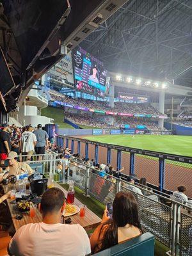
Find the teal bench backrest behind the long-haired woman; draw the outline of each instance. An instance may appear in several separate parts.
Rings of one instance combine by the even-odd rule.
[[[154,236],[145,233],[125,243],[117,244],[109,249],[94,254],[95,256],[154,256]]]

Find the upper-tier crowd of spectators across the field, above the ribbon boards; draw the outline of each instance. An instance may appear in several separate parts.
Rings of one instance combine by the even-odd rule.
[[[130,114],[148,114],[148,115],[161,115],[159,111],[153,108],[150,104],[132,104],[126,102],[115,102],[114,108],[108,106],[108,102],[99,100],[90,100],[83,98],[72,98],[63,95],[56,91],[49,91],[52,100],[67,102],[73,106],[81,106],[83,108],[98,109],[102,111],[113,111],[117,113],[130,113]]]

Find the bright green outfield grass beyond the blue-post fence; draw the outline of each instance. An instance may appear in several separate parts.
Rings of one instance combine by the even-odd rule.
[[[100,135],[86,136],[87,140],[99,141],[131,148],[139,148],[192,157],[192,136],[175,135]]]

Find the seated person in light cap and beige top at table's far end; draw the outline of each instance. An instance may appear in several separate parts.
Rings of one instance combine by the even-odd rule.
[[[20,173],[28,172],[28,175],[33,173],[33,170],[29,166],[29,164],[21,163],[17,161],[17,153],[14,151],[10,151],[7,159],[9,160],[9,166],[6,170],[10,175],[19,175]]]

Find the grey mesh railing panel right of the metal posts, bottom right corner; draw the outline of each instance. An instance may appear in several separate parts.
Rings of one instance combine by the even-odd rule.
[[[192,255],[192,217],[184,213],[180,218],[179,245],[180,256]]]

